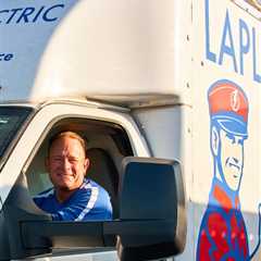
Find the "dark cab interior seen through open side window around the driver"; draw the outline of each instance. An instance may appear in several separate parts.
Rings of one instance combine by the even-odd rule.
[[[45,167],[49,139],[57,133],[72,130],[87,142],[87,157],[90,166],[86,176],[101,185],[110,195],[113,217],[119,215],[119,173],[124,157],[133,151],[124,129],[112,123],[86,119],[63,119],[46,134],[44,141],[30,157],[25,175],[32,196],[52,187]]]

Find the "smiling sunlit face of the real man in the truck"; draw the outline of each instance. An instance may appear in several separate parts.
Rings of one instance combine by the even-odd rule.
[[[84,181],[89,160],[85,158],[79,140],[61,137],[52,144],[47,169],[53,186],[58,189],[73,190]]]

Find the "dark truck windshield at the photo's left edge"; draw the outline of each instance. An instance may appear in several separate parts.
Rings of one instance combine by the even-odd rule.
[[[0,161],[32,112],[28,107],[0,107]]]

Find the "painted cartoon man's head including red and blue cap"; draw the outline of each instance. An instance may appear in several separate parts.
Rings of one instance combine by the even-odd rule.
[[[214,175],[229,189],[239,190],[244,169],[244,141],[248,137],[248,99],[229,80],[214,83],[208,91]]]

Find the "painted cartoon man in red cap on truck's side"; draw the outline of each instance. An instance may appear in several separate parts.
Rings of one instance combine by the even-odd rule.
[[[250,260],[239,201],[248,99],[235,83],[219,80],[210,87],[208,101],[214,176],[200,225],[197,260]]]

